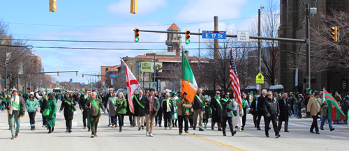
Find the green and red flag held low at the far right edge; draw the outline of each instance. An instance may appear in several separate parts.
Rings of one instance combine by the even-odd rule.
[[[325,101],[327,102],[329,120],[344,120],[344,118],[348,119],[348,117],[344,115],[341,107],[338,105],[334,97],[332,97],[332,95],[330,95],[325,88],[323,98],[325,98]]]

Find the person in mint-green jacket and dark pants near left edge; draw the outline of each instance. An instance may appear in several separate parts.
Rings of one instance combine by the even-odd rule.
[[[39,111],[39,102],[34,97],[34,92],[31,92],[25,107],[28,111],[29,120],[30,120],[30,130],[35,130],[35,116],[36,112]]]

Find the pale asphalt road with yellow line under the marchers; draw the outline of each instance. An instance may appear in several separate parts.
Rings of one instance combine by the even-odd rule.
[[[57,104],[57,109],[61,102]],[[57,111],[58,112],[58,111]],[[189,129],[189,134],[178,134],[178,128],[172,130],[154,127],[154,137],[145,136],[145,130],[130,127],[128,116],[125,116],[123,132],[119,127],[107,127],[108,116],[102,115],[98,125],[98,136],[90,138],[91,133],[82,129],[82,113],[75,112],[73,132],[66,133],[64,115],[57,113],[56,127],[52,134],[42,126],[41,114],[36,114],[36,130],[31,131],[29,116],[21,118],[20,134],[10,140],[7,111],[0,113],[0,147],[1,150],[346,150],[349,147],[349,126],[334,125],[336,129],[320,130],[320,135],[309,133],[311,119],[290,118],[289,133],[281,129],[281,137],[274,138],[273,129],[269,138],[265,137],[264,122],[261,131],[254,128],[251,114],[247,116],[243,132],[235,136],[223,136],[222,132],[205,129],[204,132]],[[209,120],[210,121],[210,120]],[[320,127],[320,122],[318,122]]]

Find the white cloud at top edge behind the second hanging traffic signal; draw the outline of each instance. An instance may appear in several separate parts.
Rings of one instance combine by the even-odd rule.
[[[157,8],[162,8],[167,5],[165,0],[139,0],[138,1],[138,15],[146,15],[153,13]],[[120,0],[118,3],[113,3],[108,6],[107,10],[110,13],[118,15],[131,15],[131,1],[130,0]]]

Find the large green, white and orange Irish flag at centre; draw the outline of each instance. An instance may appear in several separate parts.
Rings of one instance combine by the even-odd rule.
[[[181,95],[183,96],[183,93],[186,93],[186,99],[193,103],[196,91],[198,90],[198,84],[196,84],[193,70],[191,70],[191,65],[189,65],[184,51],[181,54],[181,58]]]

